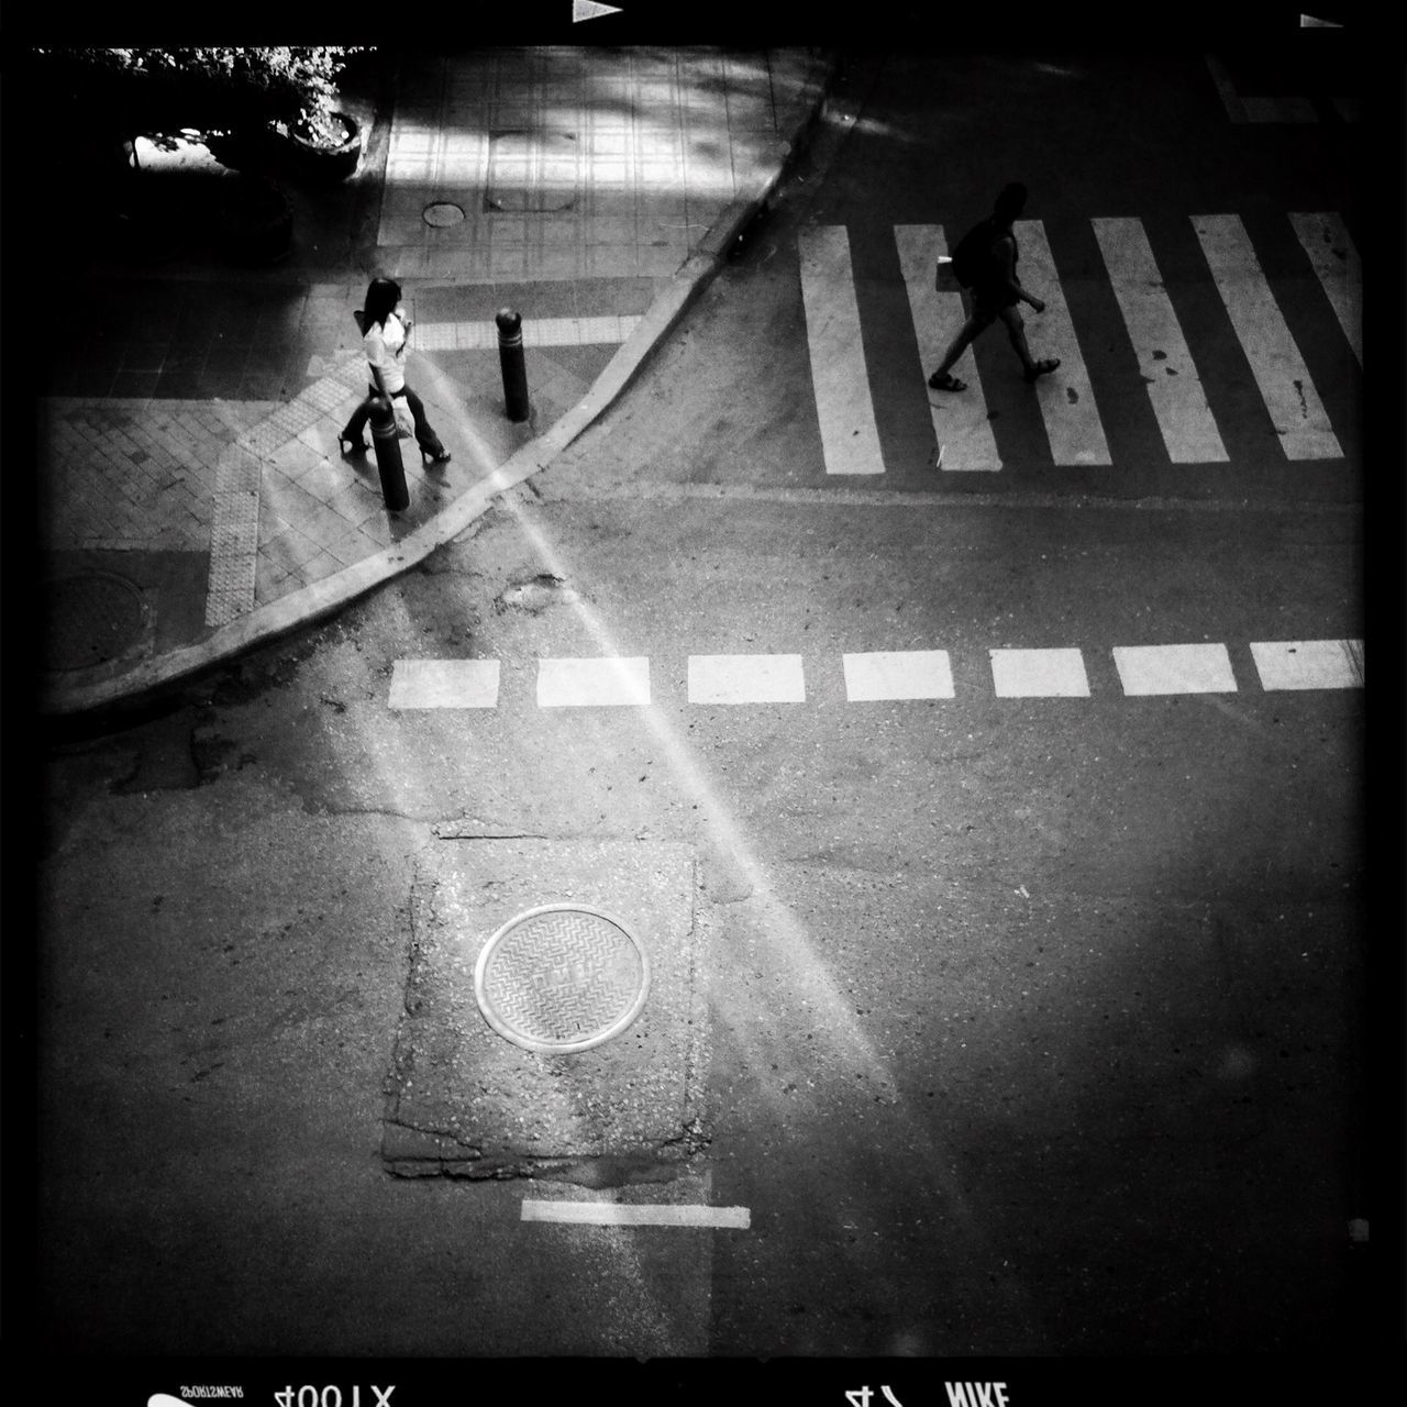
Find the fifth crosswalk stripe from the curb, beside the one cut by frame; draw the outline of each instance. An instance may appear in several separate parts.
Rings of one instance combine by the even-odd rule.
[[[1339,459],[1344,452],[1240,217],[1193,215],[1192,225],[1286,459]]]

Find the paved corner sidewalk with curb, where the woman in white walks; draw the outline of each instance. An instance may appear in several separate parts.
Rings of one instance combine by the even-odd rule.
[[[547,464],[720,267],[829,72],[809,51],[416,56],[353,177],[380,183],[370,269],[342,232],[319,259],[295,229],[294,257],[257,273],[100,270],[41,402],[45,712],[138,699],[335,612]],[[336,442],[366,386],[352,311],[371,272],[405,288],[408,381],[453,454],[422,467],[401,442],[400,514],[374,459]]]

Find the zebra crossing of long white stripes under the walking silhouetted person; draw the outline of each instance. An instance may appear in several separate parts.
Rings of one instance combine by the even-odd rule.
[[[1216,290],[1231,335],[1244,356],[1286,461],[1342,460],[1344,443],[1282,307],[1282,294],[1256,253],[1245,222],[1237,214],[1188,217],[1200,253],[1203,284]],[[1362,367],[1362,265],[1352,236],[1338,212],[1290,212],[1286,234],[1313,270],[1303,280],[1309,295],[1324,300],[1344,339]],[[1224,346],[1202,345],[1189,335],[1179,301],[1186,293],[1169,279],[1172,255],[1137,217],[1089,221],[1102,260],[1099,277],[1107,283],[1137,357],[1137,373],[1172,464],[1225,464],[1225,426],[1207,397],[1206,367]],[[919,352],[913,384],[923,386],[965,317],[962,294],[936,280],[937,259],[961,231],[941,224],[893,225],[898,265],[908,295],[913,343]],[[1031,340],[1041,356],[1059,357],[1059,370],[1034,386],[1057,466],[1110,466],[1103,397],[1116,402],[1127,386],[1097,384],[1085,348],[1106,328],[1082,324],[1067,300],[1061,267],[1044,224],[1016,222],[1021,281],[1044,301],[1045,311],[1030,319]],[[884,474],[881,415],[872,398],[871,369],[861,339],[858,286],[854,277],[850,231],[844,225],[810,225],[798,234],[802,308],[815,391],[825,470],[833,476]],[[1175,260],[1173,260],[1175,262]],[[1081,274],[1083,277],[1083,274]],[[1183,283],[1186,280],[1183,279]],[[1282,281],[1283,288],[1283,281]],[[1317,290],[1317,293],[1314,291]],[[1085,315],[1088,319],[1088,314]],[[929,393],[934,449],[930,463],[944,473],[999,471],[1003,459],[993,429],[992,397],[982,386],[979,359],[968,348],[954,373],[968,383],[960,394]],[[1107,371],[1106,371],[1107,377]]]

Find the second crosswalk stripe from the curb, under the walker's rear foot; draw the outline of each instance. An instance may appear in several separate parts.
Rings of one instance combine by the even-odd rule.
[[[934,286],[938,255],[948,252],[941,225],[895,225],[899,248],[899,267],[909,290],[909,310],[913,315],[913,335],[919,343],[919,369],[927,381],[943,359],[948,342],[967,319],[962,294],[938,293]],[[992,422],[986,418],[986,397],[976,374],[976,357],[968,348],[953,366],[953,374],[967,381],[965,391],[929,391],[929,414],[933,416],[934,445],[943,446],[944,471],[998,470]]]

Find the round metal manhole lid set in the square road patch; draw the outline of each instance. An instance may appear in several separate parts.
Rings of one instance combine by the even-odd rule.
[[[650,962],[609,913],[549,903],[505,923],[474,967],[474,996],[499,1036],[530,1051],[584,1051],[640,1014]]]

